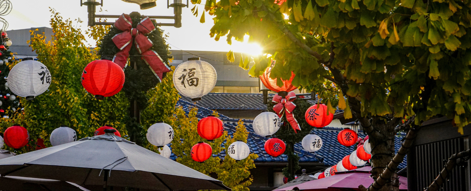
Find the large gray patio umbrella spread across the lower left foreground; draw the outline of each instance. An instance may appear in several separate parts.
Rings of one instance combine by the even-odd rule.
[[[0,176],[161,191],[230,190],[221,181],[114,135],[86,137],[0,160]]]

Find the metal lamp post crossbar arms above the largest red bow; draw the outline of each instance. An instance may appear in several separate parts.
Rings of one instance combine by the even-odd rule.
[[[87,6],[88,8],[88,25],[95,26],[95,25],[113,25],[114,22],[96,22],[95,18],[119,18],[120,15],[95,15],[97,6],[103,6],[103,0],[97,2],[97,0],[80,0],[80,6]],[[174,23],[157,23],[157,26],[174,26],[177,28],[181,27],[181,13],[183,7],[188,7],[188,0],[187,4],[183,4],[182,0],[173,0],[172,4],[169,4],[169,0],[167,0],[167,8],[173,7],[173,14],[174,16],[148,16],[151,19],[173,19]]]

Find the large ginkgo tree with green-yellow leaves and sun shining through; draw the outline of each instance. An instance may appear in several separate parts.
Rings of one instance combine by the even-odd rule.
[[[278,84],[294,72],[293,85],[359,119],[373,147],[370,191],[392,190],[390,177],[423,121],[447,116],[460,133],[470,123],[469,0],[199,1],[214,16],[215,40],[249,35],[263,47],[267,56],[254,57],[250,75],[276,60]],[[407,136],[396,154],[399,130]]]

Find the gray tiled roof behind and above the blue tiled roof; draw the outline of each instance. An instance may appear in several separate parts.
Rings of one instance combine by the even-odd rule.
[[[273,96],[273,95],[269,95]],[[181,100],[192,102],[191,98],[181,96]],[[309,100],[314,104],[314,101]],[[193,103],[193,102],[192,102]],[[262,94],[209,93],[203,96],[197,105],[210,110],[266,110]]]

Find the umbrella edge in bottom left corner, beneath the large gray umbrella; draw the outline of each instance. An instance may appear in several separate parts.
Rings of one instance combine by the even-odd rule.
[[[89,191],[77,184],[59,180],[25,178],[18,176],[0,177],[1,191]]]

